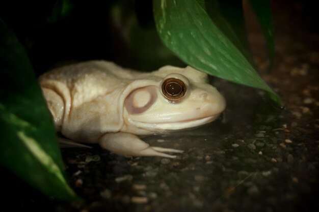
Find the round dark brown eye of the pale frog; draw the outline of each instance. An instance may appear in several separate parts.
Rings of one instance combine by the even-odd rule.
[[[162,84],[162,92],[166,99],[175,102],[185,95],[186,86],[180,79],[168,78]]]

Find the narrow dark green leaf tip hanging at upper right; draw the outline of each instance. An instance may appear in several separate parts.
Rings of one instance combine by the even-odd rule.
[[[258,19],[261,32],[266,40],[269,55],[269,70],[274,66],[275,39],[274,25],[269,0],[249,0],[250,6]]]

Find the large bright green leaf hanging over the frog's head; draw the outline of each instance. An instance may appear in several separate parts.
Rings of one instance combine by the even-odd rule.
[[[196,0],[153,0],[153,11],[159,37],[185,63],[210,75],[266,90],[281,105],[249,59]]]

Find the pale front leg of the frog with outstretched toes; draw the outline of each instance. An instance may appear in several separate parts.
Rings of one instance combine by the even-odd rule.
[[[166,153],[182,153],[182,150],[150,146],[130,133],[107,133],[99,139],[101,147],[122,156],[159,156],[176,158]]]

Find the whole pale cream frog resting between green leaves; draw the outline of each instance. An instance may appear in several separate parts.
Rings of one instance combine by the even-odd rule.
[[[161,156],[181,150],[149,146],[138,136],[193,128],[215,120],[224,97],[191,67],[150,73],[90,61],[39,78],[56,130],[76,142],[99,143],[124,156]]]

